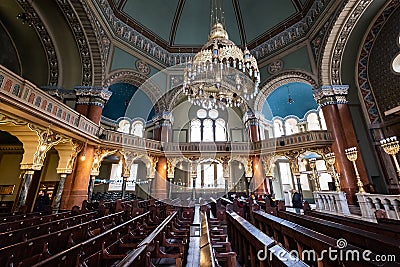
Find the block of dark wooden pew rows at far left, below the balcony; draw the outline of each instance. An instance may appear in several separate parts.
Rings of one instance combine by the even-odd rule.
[[[147,212],[150,201],[146,202],[142,203],[143,208],[140,211],[149,216],[146,222],[151,222],[152,218],[157,216],[150,216],[150,212]],[[92,210],[93,207],[83,203],[82,209],[74,207],[72,211],[58,214],[43,216],[39,216],[38,213],[26,214],[24,217],[19,217],[21,220],[9,220],[8,217],[4,217],[0,225],[9,223],[0,232],[0,266],[33,266],[35,264],[40,266],[44,260],[76,245],[92,238],[107,236],[105,233],[112,231],[111,229],[117,229],[113,233],[119,236],[118,229],[122,231],[126,222],[133,222],[132,219],[138,220],[137,214],[132,215],[135,207],[139,207],[139,204],[127,202],[120,205],[118,212],[110,213],[111,210],[118,209],[116,203],[106,205],[97,203],[97,210]],[[156,207],[153,208],[155,209]],[[158,208],[158,210],[163,209]],[[92,246],[89,247],[92,248]],[[90,254],[85,250],[83,253]],[[80,262],[76,264],[81,264],[83,259],[86,258],[79,257]]]

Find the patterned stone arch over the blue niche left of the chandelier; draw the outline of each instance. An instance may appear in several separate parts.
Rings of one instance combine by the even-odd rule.
[[[129,83],[140,88],[150,98],[156,113],[166,110],[166,104],[162,97],[164,93],[156,84],[148,80],[146,75],[132,70],[118,70],[111,73],[104,81],[107,88],[116,83]]]

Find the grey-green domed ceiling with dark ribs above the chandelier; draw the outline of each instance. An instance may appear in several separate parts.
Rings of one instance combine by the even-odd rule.
[[[170,52],[193,52],[210,30],[209,0],[108,0],[123,22]],[[299,22],[310,0],[222,0],[225,27],[237,45],[250,49]]]

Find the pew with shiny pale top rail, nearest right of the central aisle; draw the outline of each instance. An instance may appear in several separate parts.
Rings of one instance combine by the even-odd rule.
[[[234,211],[227,210],[228,233],[238,260],[246,266],[308,266],[289,255],[275,240],[257,229]],[[250,255],[250,257],[248,257]]]

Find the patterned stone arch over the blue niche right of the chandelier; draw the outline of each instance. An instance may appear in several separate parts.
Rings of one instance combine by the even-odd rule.
[[[283,72],[279,75],[273,76],[272,78],[266,80],[260,86],[260,92],[256,96],[254,101],[255,111],[261,112],[267,97],[278,87],[292,82],[302,82],[311,85],[316,88],[317,82],[312,77],[311,74],[300,72],[300,71],[290,71]]]

